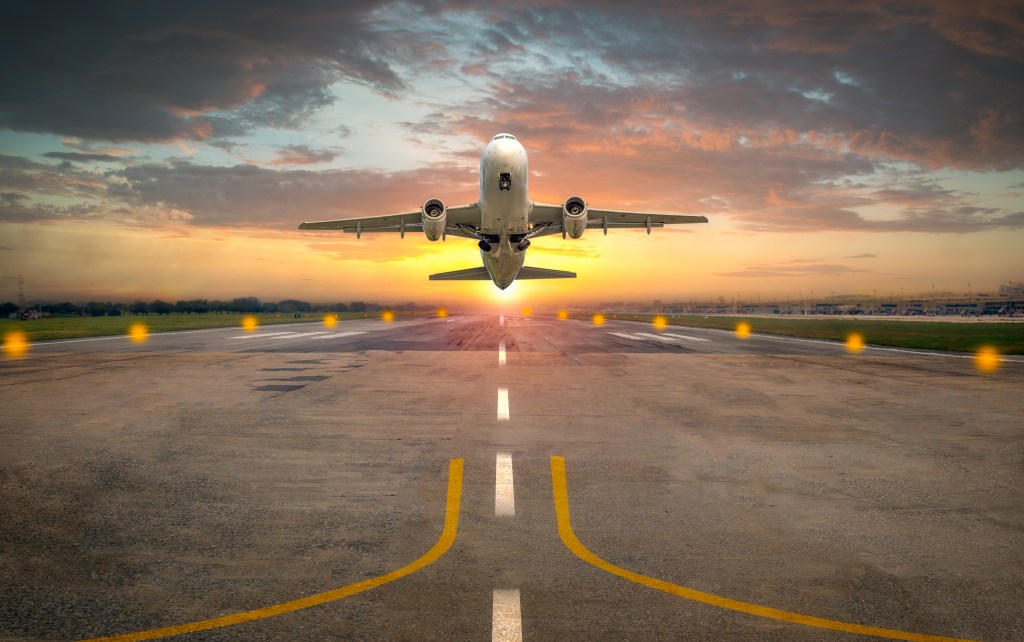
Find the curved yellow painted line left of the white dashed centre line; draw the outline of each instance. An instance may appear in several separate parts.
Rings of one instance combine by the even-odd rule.
[[[424,553],[422,557],[402,566],[401,568],[398,568],[397,570],[392,570],[391,572],[378,577],[364,580],[361,582],[356,582],[355,584],[350,584],[331,591],[326,591],[324,593],[317,593],[316,595],[310,595],[298,600],[282,602],[281,604],[264,606],[262,608],[249,611],[242,611],[241,613],[232,613],[230,615],[222,615],[220,617],[213,617],[211,619],[203,619],[201,622],[193,622],[174,627],[165,627],[163,629],[139,631],[136,633],[127,633],[105,638],[91,638],[89,640],[83,640],[82,642],[134,642],[135,640],[153,640],[155,638],[167,638],[185,633],[195,633],[197,631],[219,629],[222,627],[242,624],[244,622],[273,617],[274,615],[290,613],[303,608],[309,608],[310,606],[318,606],[327,602],[333,602],[342,598],[351,597],[357,593],[362,593],[364,591],[369,591],[370,589],[375,589],[379,586],[388,584],[389,582],[394,582],[395,580],[404,577],[410,573],[416,572],[417,570],[436,562],[442,555],[444,555],[444,553],[447,552],[450,548],[452,548],[452,545],[455,543],[456,533],[459,530],[459,505],[462,500],[462,471],[463,460],[454,459],[449,462],[447,500],[445,501],[444,506],[444,527],[441,529],[440,538],[438,538],[437,542],[430,548],[429,551]]]

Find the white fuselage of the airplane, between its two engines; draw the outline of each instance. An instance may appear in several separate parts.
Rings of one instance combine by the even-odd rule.
[[[480,157],[480,234],[483,266],[501,289],[508,288],[522,269],[529,231],[526,149],[511,134],[498,134]],[[529,245],[528,241],[525,241]]]

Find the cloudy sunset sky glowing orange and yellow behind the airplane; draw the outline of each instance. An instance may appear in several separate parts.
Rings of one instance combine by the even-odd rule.
[[[1024,281],[1024,11],[962,2],[25,2],[0,26],[0,276],[29,300],[459,304]],[[300,232],[477,199],[709,225],[475,244]],[[0,301],[16,301],[0,281]]]

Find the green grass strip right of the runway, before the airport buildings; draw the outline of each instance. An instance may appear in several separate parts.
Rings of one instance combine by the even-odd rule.
[[[609,318],[652,323],[653,314],[614,314]],[[958,323],[877,320],[874,318],[765,318],[758,316],[667,315],[670,326],[734,331],[750,324],[751,331],[767,335],[846,341],[859,334],[864,343],[922,350],[975,352],[995,348],[1001,354],[1024,354],[1024,323]]]

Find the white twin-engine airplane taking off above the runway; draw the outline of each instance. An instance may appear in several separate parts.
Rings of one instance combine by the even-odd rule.
[[[524,265],[530,239],[561,232],[562,239],[579,239],[587,229],[663,227],[677,223],[707,223],[703,216],[623,212],[590,209],[580,197],[561,205],[534,203],[526,178],[526,149],[512,134],[498,134],[480,157],[480,199],[476,203],[445,207],[440,199],[429,199],[419,210],[333,221],[313,221],[299,229],[340,229],[355,232],[422,231],[428,240],[447,237],[475,239],[482,267],[431,274],[430,281],[486,281],[505,290],[516,279],[575,279],[575,272]]]

